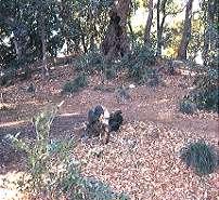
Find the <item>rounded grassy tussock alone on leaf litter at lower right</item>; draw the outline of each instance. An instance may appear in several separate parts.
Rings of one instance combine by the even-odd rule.
[[[217,157],[214,149],[204,142],[196,142],[181,149],[181,159],[186,166],[194,168],[198,175],[212,173],[217,168]]]

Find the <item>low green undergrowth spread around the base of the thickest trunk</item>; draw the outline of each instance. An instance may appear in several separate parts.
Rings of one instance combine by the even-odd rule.
[[[94,49],[81,55],[75,62],[76,69],[87,74],[102,71],[106,79],[116,78],[118,70],[128,69],[128,75],[137,83],[146,83],[152,77],[151,65],[155,64],[155,53],[152,49],[138,45],[118,61],[105,62],[104,55],[100,50]]]

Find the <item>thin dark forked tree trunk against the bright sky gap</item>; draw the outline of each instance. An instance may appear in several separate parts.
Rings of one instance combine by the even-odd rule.
[[[160,0],[157,1],[157,50],[156,50],[157,56],[162,55],[163,31],[164,31],[165,19],[167,17],[166,3],[167,3],[167,0],[163,0],[162,2]],[[160,23],[160,13],[163,14],[162,23]]]

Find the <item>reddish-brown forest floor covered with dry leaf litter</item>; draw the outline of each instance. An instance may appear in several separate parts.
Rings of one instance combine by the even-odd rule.
[[[17,132],[33,138],[30,119],[49,103],[64,99],[51,129],[54,137],[80,135],[88,109],[96,104],[110,111],[119,108],[125,123],[107,145],[78,142],[75,155],[79,159],[88,158],[91,149],[102,149],[101,157],[89,157],[82,169],[85,176],[99,178],[132,200],[219,200],[218,171],[202,179],[179,159],[180,149],[196,139],[219,148],[217,114],[197,111],[189,116],[179,111],[179,101],[192,86],[190,76],[164,76],[165,84],[156,88],[137,85],[130,89],[131,98],[123,104],[114,92],[94,90],[99,77],[92,77],[89,86],[78,94],[61,95],[63,84],[73,77],[70,67],[59,67],[51,80],[36,75],[29,81],[1,88],[7,109],[0,110],[0,138]],[[30,81],[36,84],[35,94],[24,90]],[[112,89],[119,83],[116,80],[106,86]],[[18,191],[12,185],[3,186],[3,179],[18,177],[22,164],[20,155],[2,157],[1,152],[0,200],[25,199],[21,194],[16,196]]]

